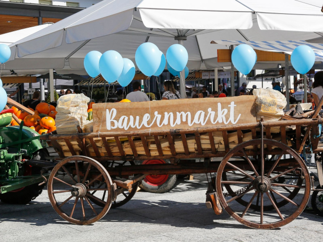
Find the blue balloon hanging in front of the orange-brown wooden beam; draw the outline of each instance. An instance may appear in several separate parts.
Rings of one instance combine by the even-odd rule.
[[[247,44],[238,45],[231,55],[232,63],[243,75],[248,75],[257,60],[257,54]]]

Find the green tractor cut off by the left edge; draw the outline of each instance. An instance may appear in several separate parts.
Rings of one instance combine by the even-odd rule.
[[[8,126],[12,109],[0,112],[0,200],[10,204],[26,204],[41,194],[48,169],[49,154],[34,130]],[[8,126],[8,127],[7,127]]]

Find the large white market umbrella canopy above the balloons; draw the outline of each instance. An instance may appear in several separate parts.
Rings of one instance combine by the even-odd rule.
[[[201,62],[220,67],[217,48],[228,47],[212,45],[212,40],[319,38],[320,9],[316,0],[105,0],[11,45],[6,69],[85,74],[87,52],[114,49],[134,59],[137,47],[147,41],[164,53],[183,43],[189,69],[199,69]]]

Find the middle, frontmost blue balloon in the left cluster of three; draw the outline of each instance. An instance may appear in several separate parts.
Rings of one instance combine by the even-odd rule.
[[[102,77],[108,83],[117,81],[123,70],[123,58],[115,50],[104,52],[99,61],[99,69]]]

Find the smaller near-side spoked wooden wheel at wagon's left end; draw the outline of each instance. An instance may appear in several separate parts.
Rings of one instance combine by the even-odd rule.
[[[60,177],[59,171],[68,179]],[[73,174],[76,174],[74,178]],[[98,187],[104,183],[106,188]],[[65,220],[74,224],[91,224],[109,211],[112,203],[112,180],[106,169],[96,160],[85,156],[72,156],[58,163],[48,179],[48,197],[52,207]],[[104,201],[98,192],[105,192]],[[91,200],[104,203],[93,206]]]

